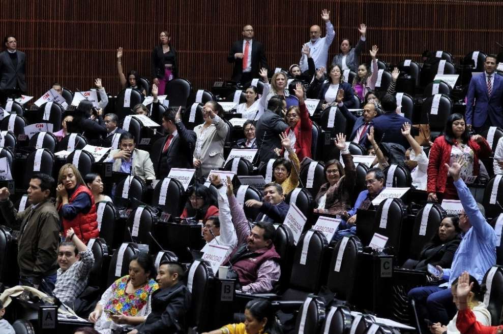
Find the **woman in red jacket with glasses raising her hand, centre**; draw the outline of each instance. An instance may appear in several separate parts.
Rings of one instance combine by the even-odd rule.
[[[313,122],[309,118],[309,113],[304,104],[304,90],[301,83],[297,83],[295,87],[295,96],[299,99],[299,107],[291,106],[286,112],[285,120],[289,125],[286,134],[293,143],[299,161],[302,161],[305,157],[311,157]],[[285,158],[288,157],[287,154]]]

